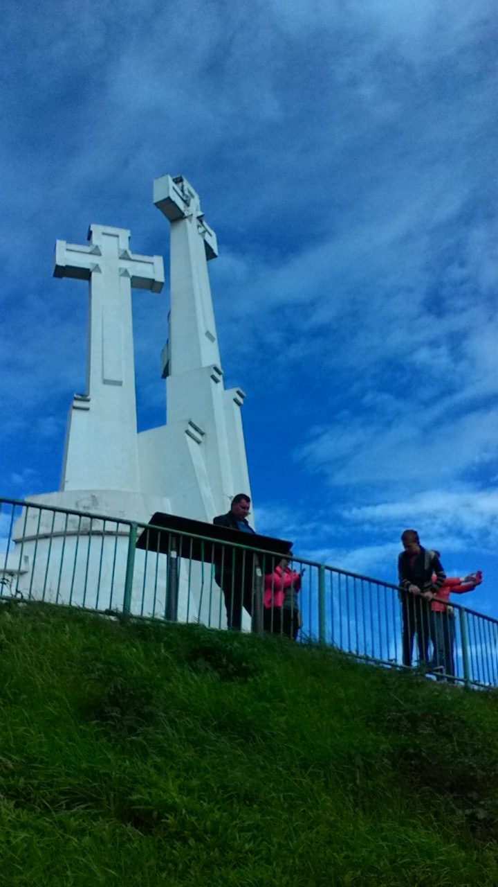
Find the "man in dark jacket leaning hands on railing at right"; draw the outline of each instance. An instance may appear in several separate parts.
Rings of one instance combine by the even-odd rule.
[[[438,594],[446,573],[438,553],[420,545],[416,530],[404,530],[401,542],[404,551],[398,557],[398,577],[403,617],[403,664],[411,665],[416,634],[418,661],[424,665],[429,662],[429,601],[432,595]],[[432,582],[433,573],[435,582]]]

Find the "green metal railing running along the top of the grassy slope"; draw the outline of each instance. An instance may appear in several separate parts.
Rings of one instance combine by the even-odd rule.
[[[294,556],[279,596],[282,555],[249,549],[241,537],[229,545],[4,498],[0,596],[284,633],[365,662],[498,686],[498,620],[455,603],[432,613],[422,598],[403,601],[397,585]]]

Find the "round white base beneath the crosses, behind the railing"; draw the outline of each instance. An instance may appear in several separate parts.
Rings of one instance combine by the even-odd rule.
[[[129,522],[146,524],[152,514],[165,510],[170,510],[167,498],[120,491],[58,491],[27,498],[12,531],[11,593],[121,612]],[[167,554],[132,547],[135,563],[129,612],[164,618]],[[210,566],[183,560],[178,592],[178,621],[225,627],[222,597]]]

